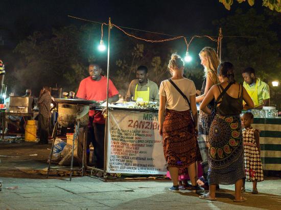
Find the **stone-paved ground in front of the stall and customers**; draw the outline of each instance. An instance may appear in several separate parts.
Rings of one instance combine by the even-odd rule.
[[[259,194],[250,193],[246,183],[246,202],[233,202],[234,186],[221,186],[217,201],[198,198],[198,194],[172,193],[170,181],[108,181],[96,177],[67,178],[34,175],[18,167],[43,168],[51,145],[0,144],[0,209],[281,209],[281,179],[267,177],[258,184]],[[37,156],[29,156],[37,153]],[[18,187],[17,189],[5,189]]]

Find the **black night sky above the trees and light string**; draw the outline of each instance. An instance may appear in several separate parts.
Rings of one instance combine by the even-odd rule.
[[[171,35],[202,35],[206,30],[214,31],[212,20],[233,14],[236,8],[249,9],[247,3],[235,2],[227,11],[217,0],[193,1],[31,1],[2,0],[0,13],[1,36],[16,44],[20,37],[33,31],[51,30],[69,24],[86,22],[67,17],[73,15],[99,22],[112,22],[130,28],[166,33]],[[261,9],[256,2],[254,8]],[[28,28],[30,34],[20,34],[20,27]],[[17,31],[15,31],[17,28]],[[3,32],[3,29],[5,32]],[[9,33],[7,33],[7,31]],[[214,31],[215,32],[215,31]],[[217,35],[217,34],[211,34]]]

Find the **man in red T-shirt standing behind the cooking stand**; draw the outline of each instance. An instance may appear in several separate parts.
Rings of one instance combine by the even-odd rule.
[[[84,78],[79,85],[76,97],[79,99],[96,100],[104,102],[107,96],[107,78],[101,75],[102,69],[98,64],[90,64],[89,76]],[[109,80],[108,102],[115,102],[119,99],[119,92],[111,80]],[[89,125],[87,131],[87,147],[92,142],[94,147],[95,166],[104,169],[104,131],[105,119],[102,112],[89,111]],[[80,129],[78,135],[77,158],[82,163],[83,156],[83,132]]]

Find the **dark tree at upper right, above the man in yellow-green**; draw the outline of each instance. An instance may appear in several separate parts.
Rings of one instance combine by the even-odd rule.
[[[214,21],[225,36],[222,59],[235,65],[238,78],[242,78],[244,68],[251,66],[263,80],[281,80],[280,34],[273,30],[281,27],[281,15],[274,18],[272,14],[257,14],[251,8],[246,13],[238,9],[234,15]]]

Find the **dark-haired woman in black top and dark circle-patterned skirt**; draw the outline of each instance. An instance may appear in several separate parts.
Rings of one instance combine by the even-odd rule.
[[[221,63],[218,76],[221,84],[214,85],[200,105],[200,110],[211,115],[207,104],[215,98],[215,118],[209,130],[209,193],[200,198],[216,200],[216,184],[235,184],[233,201],[242,202],[246,198],[241,196],[245,168],[240,114],[243,109],[252,109],[254,104],[245,88],[235,81],[231,63]]]

